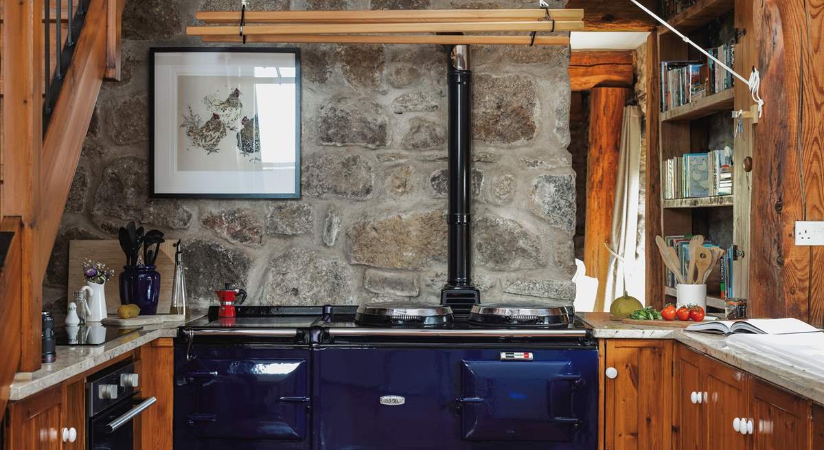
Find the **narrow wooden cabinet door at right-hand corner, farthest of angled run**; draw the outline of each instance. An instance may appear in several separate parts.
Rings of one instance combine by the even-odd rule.
[[[672,448],[675,450],[706,448],[703,396],[701,403],[697,401],[704,384],[700,368],[704,358],[686,345],[676,346],[672,381]]]

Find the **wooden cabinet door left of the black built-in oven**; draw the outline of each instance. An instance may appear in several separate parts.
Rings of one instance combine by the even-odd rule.
[[[9,403],[6,448],[62,450],[62,408],[62,385]]]

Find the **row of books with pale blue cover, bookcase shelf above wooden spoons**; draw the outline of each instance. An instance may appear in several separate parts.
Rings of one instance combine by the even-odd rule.
[[[664,162],[664,199],[733,195],[733,149],[688,153]]]

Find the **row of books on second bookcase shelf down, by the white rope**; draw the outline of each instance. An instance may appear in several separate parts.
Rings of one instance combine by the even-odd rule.
[[[733,68],[735,45],[723,44],[706,50],[714,58]],[[697,61],[662,61],[660,77],[662,112],[725,91],[735,84],[733,74],[709,58]]]

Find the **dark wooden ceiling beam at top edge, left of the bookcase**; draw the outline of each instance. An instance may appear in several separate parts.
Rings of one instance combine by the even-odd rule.
[[[641,0],[653,12],[656,0]],[[569,8],[583,8],[584,31],[652,31],[658,24],[629,0],[569,0]]]

